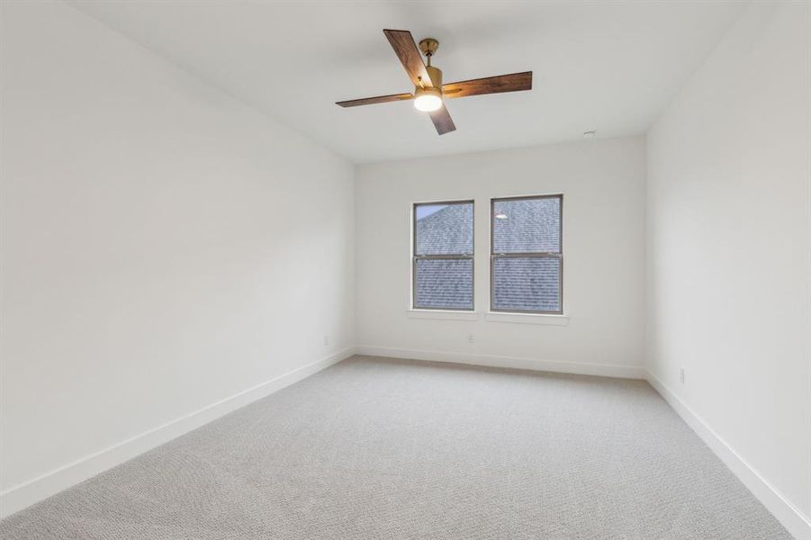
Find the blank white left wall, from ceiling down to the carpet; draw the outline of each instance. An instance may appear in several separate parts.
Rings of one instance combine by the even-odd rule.
[[[66,4],[2,66],[4,513],[354,344],[351,164]]]

